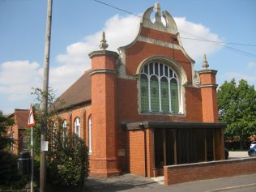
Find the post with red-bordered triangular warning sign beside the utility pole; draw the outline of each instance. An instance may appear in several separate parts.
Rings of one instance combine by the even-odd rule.
[[[33,181],[34,181],[34,146],[33,146],[33,126],[35,126],[35,119],[34,119],[34,114],[33,114],[33,109],[32,105],[30,105],[30,110],[29,110],[29,117],[28,117],[28,127],[31,127],[31,179],[30,179],[30,191],[33,192],[34,186],[33,186]]]

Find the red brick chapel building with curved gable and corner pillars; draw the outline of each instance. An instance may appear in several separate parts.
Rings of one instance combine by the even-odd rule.
[[[90,154],[92,176],[109,177],[121,172],[145,177],[162,174],[163,165],[169,158],[167,157],[169,154],[166,154],[168,142],[172,143],[171,149],[176,156],[180,154],[177,151],[179,147],[186,147],[181,143],[181,135],[186,134],[184,129],[190,129],[190,125],[186,122],[192,124],[194,122],[193,125],[198,126],[194,128],[199,129],[186,134],[186,137],[194,137],[197,132],[204,137],[204,140],[201,139],[203,147],[200,147],[204,154],[200,156],[202,155],[205,160],[224,158],[223,127],[209,133],[207,131],[210,128],[207,131],[203,130],[208,125],[203,122],[216,123],[216,126],[209,124],[211,129],[220,126],[217,125],[216,71],[208,69],[195,71],[194,61],[181,45],[181,38],[172,16],[164,11],[164,18],[167,19],[167,24],[164,26],[159,19],[152,23],[147,18],[152,11],[153,7],[144,13],[136,39],[130,45],[120,47],[118,53],[105,50],[107,45],[104,35],[100,41],[102,49],[89,54],[92,59],[92,69],[86,71],[61,96],[61,99],[66,101],[66,105],[60,106],[58,112],[67,120],[72,131],[74,131],[75,117],[80,117],[80,135],[86,140],[87,145],[88,118],[92,117],[92,154]],[[160,14],[160,10],[156,12]],[[149,62],[164,63],[177,74],[178,113],[142,112],[140,72]],[[133,122],[135,126],[129,130],[128,126],[131,125],[129,123]],[[155,124],[151,123],[153,126],[148,126],[149,123],[145,126],[146,122]],[[181,126],[168,124],[169,122],[180,122]],[[164,143],[163,147],[156,143],[156,134],[162,132],[164,136],[160,138],[160,142]],[[166,136],[165,132],[169,136]],[[207,135],[208,137],[211,135],[212,138],[207,139]],[[172,139],[175,139],[175,142]],[[176,139],[181,146],[176,144]],[[164,155],[162,154],[164,160],[156,162],[156,146],[165,150]],[[207,150],[211,151],[213,157],[207,157]],[[177,164],[180,159],[177,157],[169,161]],[[160,164],[161,168],[156,169],[156,164]]]

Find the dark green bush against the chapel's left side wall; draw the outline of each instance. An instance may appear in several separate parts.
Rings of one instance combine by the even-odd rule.
[[[53,133],[53,143],[47,160],[47,180],[51,186],[83,187],[88,177],[87,147],[76,134],[66,138]]]

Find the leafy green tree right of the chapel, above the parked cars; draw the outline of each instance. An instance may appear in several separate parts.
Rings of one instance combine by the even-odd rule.
[[[256,134],[256,91],[244,79],[225,81],[217,92],[220,122],[227,123],[227,139],[246,141]]]

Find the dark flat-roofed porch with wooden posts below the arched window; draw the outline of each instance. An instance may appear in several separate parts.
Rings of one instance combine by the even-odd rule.
[[[122,122],[122,126],[128,131],[152,131],[153,136],[147,138],[151,145],[148,147],[154,151],[156,169],[170,164],[224,160],[226,123]]]

